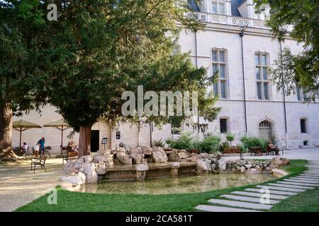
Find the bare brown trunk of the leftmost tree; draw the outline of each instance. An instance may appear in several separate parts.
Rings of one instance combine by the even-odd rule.
[[[0,107],[0,160],[17,160],[11,148],[12,107],[6,103]]]

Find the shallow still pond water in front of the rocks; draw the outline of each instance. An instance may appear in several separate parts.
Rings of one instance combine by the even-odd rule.
[[[100,194],[183,194],[256,184],[272,179],[272,174],[208,174],[146,179],[142,182],[100,182],[86,184],[82,191]]]

